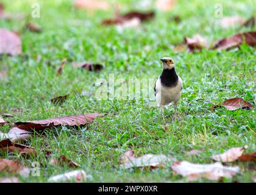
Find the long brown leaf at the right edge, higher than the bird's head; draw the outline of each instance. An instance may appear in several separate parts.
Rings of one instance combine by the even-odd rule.
[[[233,35],[232,37],[223,38],[222,40],[216,41],[211,49],[232,49],[240,46],[240,44],[244,42],[250,46],[255,46],[256,32],[244,32],[242,34]]]

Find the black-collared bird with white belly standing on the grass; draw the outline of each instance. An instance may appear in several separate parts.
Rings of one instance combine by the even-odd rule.
[[[174,113],[176,115],[177,104],[182,93],[182,79],[177,75],[175,63],[171,57],[163,57],[160,60],[162,61],[163,71],[157,78],[154,87],[157,106],[163,112],[165,107],[174,102]]]

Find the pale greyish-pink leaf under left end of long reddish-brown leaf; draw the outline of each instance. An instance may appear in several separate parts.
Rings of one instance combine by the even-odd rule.
[[[26,141],[27,138],[30,137],[30,132],[27,132],[27,130],[19,129],[18,127],[13,127],[9,130],[8,133],[2,133],[0,132],[0,139],[10,139],[10,141],[16,142],[16,141]]]

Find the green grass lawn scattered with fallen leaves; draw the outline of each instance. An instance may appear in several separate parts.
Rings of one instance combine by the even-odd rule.
[[[129,169],[119,168],[119,158],[124,151],[133,149],[136,155],[168,154],[177,160],[193,163],[213,163],[211,156],[230,147],[247,145],[247,152],[256,150],[255,110],[228,111],[218,108],[211,111],[210,103],[240,97],[254,105],[255,49],[242,45],[231,51],[203,50],[194,54],[172,50],[183,37],[201,34],[212,42],[239,32],[256,28],[237,27],[223,30],[215,25],[215,3],[219,1],[179,1],[168,13],[157,12],[156,18],[134,29],[117,30],[101,26],[101,20],[113,16],[114,10],[87,12],[76,10],[71,1],[3,1],[8,12],[21,12],[25,20],[0,20],[0,27],[21,32],[23,53],[21,57],[2,56],[0,68],[7,69],[8,79],[0,80],[0,114],[11,113],[10,122],[47,119],[80,113],[106,113],[104,118],[79,129],[58,127],[34,135],[26,144],[37,149],[37,157],[24,159],[18,154],[1,152],[1,158],[22,161],[30,166],[41,163],[40,177],[20,178],[23,182],[47,182],[50,176],[71,170],[53,167],[43,150],[54,156],[66,155],[82,165],[88,174],[87,182],[177,182],[185,181],[169,168]],[[40,2],[41,17],[30,18],[30,4]],[[112,1],[113,2],[113,1]],[[130,1],[129,1],[130,2]],[[124,11],[135,9],[136,4],[122,1]],[[224,16],[240,15],[249,18],[255,13],[255,2],[223,1]],[[177,24],[170,21],[174,15],[182,18]],[[43,32],[35,34],[24,30],[26,21],[41,26]],[[148,49],[149,48],[149,49]],[[170,56],[176,61],[176,70],[183,79],[182,99],[178,113],[173,116],[169,107],[163,121],[155,107],[141,100],[98,101],[93,96],[79,96],[76,91],[91,91],[97,79],[156,79],[161,73],[159,59]],[[61,76],[56,68],[63,59],[68,63]],[[99,73],[73,68],[71,62],[104,63]],[[153,87],[153,86],[152,86]],[[71,93],[62,105],[51,104],[55,96]],[[23,108],[15,112],[13,108]],[[164,129],[169,124],[169,132]],[[0,127],[8,132],[12,126]],[[201,149],[199,157],[182,153]],[[256,176],[255,163],[227,163],[239,165],[240,174],[224,182],[251,182]],[[0,177],[9,176],[1,172]],[[204,182],[205,180],[199,180]]]

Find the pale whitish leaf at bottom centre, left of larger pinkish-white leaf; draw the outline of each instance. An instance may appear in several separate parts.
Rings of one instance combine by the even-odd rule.
[[[124,169],[129,169],[133,167],[145,167],[150,166],[151,168],[163,168],[168,163],[172,163],[174,161],[174,158],[168,157],[166,155],[154,155],[154,154],[145,154],[138,158],[129,158],[127,157],[126,160],[122,166]]]

